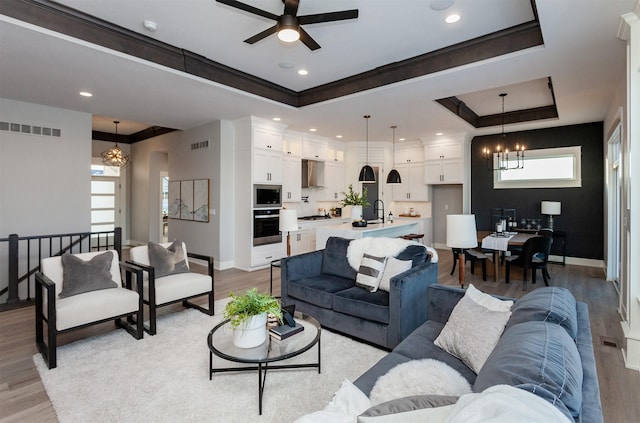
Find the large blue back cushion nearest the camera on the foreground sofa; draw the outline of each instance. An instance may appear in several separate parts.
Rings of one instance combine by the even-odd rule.
[[[582,379],[580,354],[569,334],[555,324],[526,322],[505,330],[473,390],[501,384],[525,389],[573,421],[582,409]]]

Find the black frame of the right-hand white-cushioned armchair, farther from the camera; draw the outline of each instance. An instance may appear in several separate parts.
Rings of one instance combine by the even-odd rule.
[[[140,269],[142,269],[143,271],[147,272],[147,274],[149,275],[149,299],[148,300],[144,300],[143,302],[144,304],[147,305],[147,307],[149,308],[149,323],[148,324],[144,324],[144,330],[149,334],[149,335],[155,335],[157,333],[157,309],[160,307],[164,307],[164,306],[168,306],[170,304],[175,304],[178,302],[182,301],[182,306],[186,307],[186,308],[194,308],[206,315],[209,316],[213,316],[214,315],[214,291],[215,291],[215,283],[214,283],[214,277],[213,277],[213,267],[214,267],[214,259],[213,257],[210,256],[206,256],[203,254],[197,254],[197,253],[191,253],[191,252],[187,252],[187,257],[189,258],[194,258],[194,259],[198,259],[198,260],[204,260],[207,262],[207,268],[208,268],[208,275],[211,277],[211,291],[209,292],[205,292],[202,294],[197,294],[197,295],[192,295],[190,297],[184,297],[184,298],[179,298],[177,300],[173,300],[173,301],[168,301],[166,303],[163,304],[156,304],[156,277],[155,277],[155,269],[153,266],[147,266],[145,264],[142,263],[138,263],[135,262],[133,260],[127,260],[127,263],[139,267]],[[140,279],[142,280],[142,279]],[[140,283],[140,285],[142,285],[142,283]],[[201,297],[203,295],[207,295],[209,298],[209,304],[208,304],[208,308],[204,308],[199,306],[198,304],[194,304],[192,302],[190,302],[190,299],[193,298],[197,298],[197,297]],[[144,298],[144,297],[143,297]]]

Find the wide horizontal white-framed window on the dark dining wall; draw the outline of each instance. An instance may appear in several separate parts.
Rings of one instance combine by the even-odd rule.
[[[528,150],[523,169],[494,172],[493,188],[581,187],[581,158],[580,146]],[[509,164],[515,166],[511,160]]]

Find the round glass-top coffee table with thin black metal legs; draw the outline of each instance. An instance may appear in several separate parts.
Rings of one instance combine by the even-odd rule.
[[[262,396],[264,393],[267,370],[317,368],[320,373],[320,323],[311,316],[296,312],[296,322],[304,326],[302,332],[289,338],[278,340],[267,335],[267,340],[255,348],[238,348],[233,344],[233,330],[229,320],[214,327],[207,337],[209,345],[209,380],[214,373],[258,371],[258,413],[262,414]],[[272,364],[300,355],[318,346],[318,360],[315,363]],[[241,363],[231,367],[214,367],[213,356],[224,360]]]

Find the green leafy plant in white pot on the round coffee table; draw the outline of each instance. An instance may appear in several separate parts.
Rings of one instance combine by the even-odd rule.
[[[252,288],[242,295],[233,292],[224,308],[225,319],[230,319],[234,330],[233,343],[240,348],[253,348],[267,338],[267,315],[282,322],[280,301],[269,294],[261,294]]]

